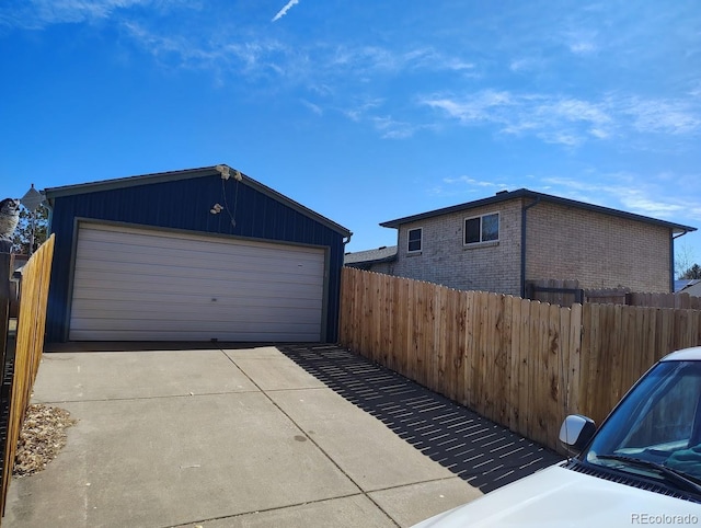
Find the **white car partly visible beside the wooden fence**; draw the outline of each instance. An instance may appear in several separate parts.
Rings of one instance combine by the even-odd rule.
[[[701,347],[664,357],[596,429],[567,416],[568,460],[416,527],[689,526],[701,523]]]

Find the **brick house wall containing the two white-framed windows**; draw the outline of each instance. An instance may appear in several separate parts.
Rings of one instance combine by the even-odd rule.
[[[498,242],[466,246],[464,219],[491,213],[499,214]],[[422,251],[410,254],[407,233],[415,228],[423,229]],[[388,269],[393,275],[456,289],[520,295],[520,200],[403,225],[398,244],[398,261]]]

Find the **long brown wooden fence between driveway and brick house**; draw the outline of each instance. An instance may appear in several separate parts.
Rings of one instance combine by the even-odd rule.
[[[566,414],[600,423],[655,360],[701,344],[701,311],[562,308],[345,267],[340,342],[560,450]]]

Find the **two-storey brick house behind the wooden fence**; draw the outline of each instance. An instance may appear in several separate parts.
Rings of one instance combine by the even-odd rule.
[[[696,228],[526,188],[380,223],[395,249],[348,266],[457,289],[525,296],[531,280],[670,292],[674,239]]]

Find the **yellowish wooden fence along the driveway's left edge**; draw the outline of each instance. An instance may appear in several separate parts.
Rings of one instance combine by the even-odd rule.
[[[22,424],[30,405],[32,388],[42,359],[46,303],[54,255],[51,236],[32,255],[22,269],[20,284],[20,311],[16,325],[14,358],[8,354],[3,365],[4,377],[10,380],[8,401],[2,402],[7,415],[7,434],[2,435],[2,490],[0,513],[4,515],[8,486],[16,455]],[[7,338],[7,336],[3,336]],[[5,399],[3,393],[3,400]]]

